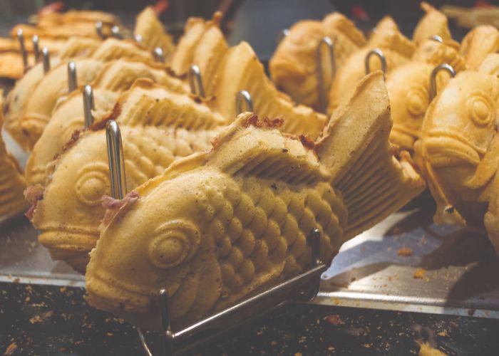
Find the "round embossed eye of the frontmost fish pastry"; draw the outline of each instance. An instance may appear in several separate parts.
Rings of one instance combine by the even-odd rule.
[[[178,266],[194,256],[200,241],[200,232],[190,221],[168,221],[156,230],[150,241],[150,261],[160,268]]]

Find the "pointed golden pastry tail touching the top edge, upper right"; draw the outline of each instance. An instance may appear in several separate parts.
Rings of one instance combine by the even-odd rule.
[[[414,28],[412,36],[416,46],[432,36],[440,36],[443,41],[450,41],[452,36],[448,28],[447,17],[425,1],[421,1],[421,9],[425,15]]]

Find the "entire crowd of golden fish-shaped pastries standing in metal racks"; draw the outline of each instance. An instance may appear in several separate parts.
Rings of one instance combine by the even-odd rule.
[[[460,45],[446,16],[423,9],[412,40],[389,17],[367,39],[340,14],[297,23],[269,64],[274,83],[248,43],[227,44],[220,14],[189,19],[176,45],[152,9],[134,38],[69,38],[4,108],[31,152],[39,241],[86,273],[89,303],[158,329],[161,288],[186,325],[304,271],[314,228],[331,261],[420,194],[423,178],[438,222],[483,221],[490,202],[485,225],[499,240],[498,33],[475,28]],[[324,37],[333,58],[317,50]],[[444,64],[455,78],[434,72]],[[329,117],[316,111],[320,83],[331,83]],[[122,135],[123,199],[107,197],[110,124]],[[15,167],[3,152],[0,164]],[[20,171],[6,172],[1,182],[20,192]],[[22,206],[19,192],[0,203]]]

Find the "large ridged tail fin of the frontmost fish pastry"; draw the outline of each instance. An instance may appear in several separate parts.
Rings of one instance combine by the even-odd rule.
[[[390,130],[389,97],[378,70],[340,103],[316,144],[349,212],[346,239],[401,208],[425,187],[407,152],[393,154]]]

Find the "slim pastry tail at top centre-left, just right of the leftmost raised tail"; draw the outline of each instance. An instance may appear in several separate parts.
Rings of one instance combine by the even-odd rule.
[[[187,19],[184,28],[184,34],[178,41],[177,47],[170,57],[170,67],[173,73],[182,76],[186,75],[189,67],[192,64],[196,48],[201,43],[204,43],[203,38],[205,33],[208,33],[211,27],[220,28],[220,20],[222,14],[215,12],[213,19],[205,21],[198,17],[190,17]]]

